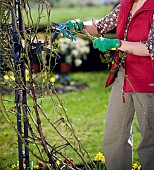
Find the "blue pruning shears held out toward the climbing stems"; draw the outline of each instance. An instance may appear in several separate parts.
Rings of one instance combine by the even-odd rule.
[[[70,31],[68,31],[68,26],[66,24],[57,24],[52,22],[52,28],[55,30],[55,33],[52,36],[51,42],[54,42],[60,33],[76,41],[76,37]]]

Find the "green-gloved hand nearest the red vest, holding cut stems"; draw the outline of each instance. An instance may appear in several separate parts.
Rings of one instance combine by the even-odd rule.
[[[118,39],[108,39],[108,38],[100,37],[93,40],[93,47],[99,49],[102,52],[114,48],[119,48],[120,46],[121,46],[121,41]]]

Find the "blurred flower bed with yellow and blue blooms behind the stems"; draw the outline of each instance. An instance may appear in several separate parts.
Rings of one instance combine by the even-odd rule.
[[[27,87],[29,87],[29,71],[25,70],[25,80],[27,82]],[[72,91],[80,91],[88,88],[89,86],[80,82],[79,80],[72,79],[68,75],[52,74],[47,72],[41,72],[33,75],[33,87],[36,90],[37,94],[40,94],[42,91],[46,93],[47,84],[54,85],[54,89],[58,94],[68,93]],[[5,95],[13,92],[11,87],[15,86],[15,77],[13,72],[6,72],[3,76],[3,80],[0,81],[0,92]],[[42,88],[42,86],[44,86]],[[28,91],[29,92],[29,91]]]

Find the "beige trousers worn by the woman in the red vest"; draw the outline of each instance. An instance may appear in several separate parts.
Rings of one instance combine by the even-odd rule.
[[[103,141],[107,170],[131,170],[131,127],[135,112],[142,135],[138,146],[142,170],[154,170],[154,93],[125,93],[123,103],[123,77],[119,71],[107,111]]]

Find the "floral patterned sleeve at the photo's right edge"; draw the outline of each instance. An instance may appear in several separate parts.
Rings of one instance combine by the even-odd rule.
[[[154,60],[154,16],[148,40],[145,41],[144,44],[146,44],[149,53],[151,54],[151,59]]]

